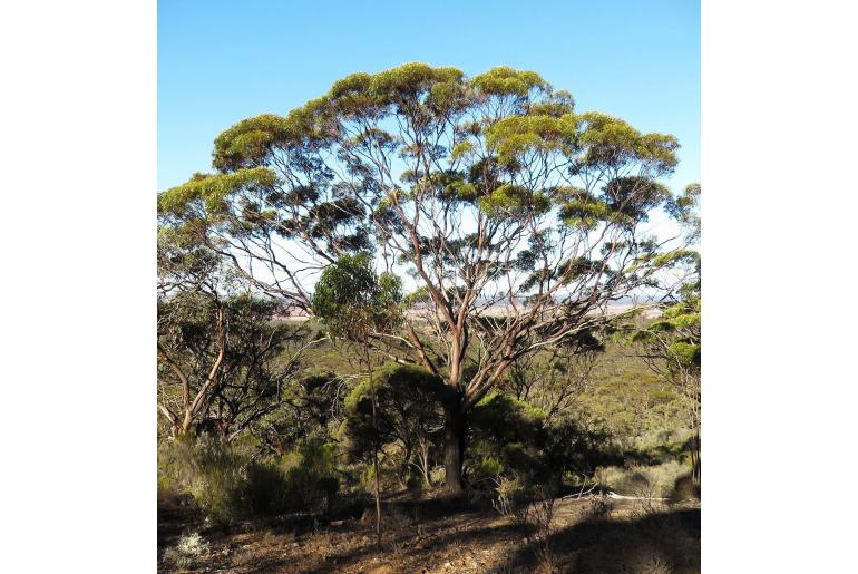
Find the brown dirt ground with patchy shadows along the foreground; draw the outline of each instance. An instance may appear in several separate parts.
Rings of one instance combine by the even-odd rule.
[[[592,498],[556,500],[547,544],[532,526],[491,508],[449,500],[392,500],[381,552],[374,515],[320,524],[206,528],[158,513],[158,572],[319,573],[694,573],[700,572],[700,503],[666,506]],[[183,534],[207,545],[182,568],[164,558]],[[539,560],[549,551],[549,561]],[[549,565],[550,564],[550,565]]]

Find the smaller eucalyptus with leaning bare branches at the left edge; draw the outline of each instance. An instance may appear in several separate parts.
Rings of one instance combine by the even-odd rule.
[[[279,407],[314,341],[274,321],[282,303],[236,292],[211,252],[172,231],[158,237],[158,412],[174,436],[231,441]]]

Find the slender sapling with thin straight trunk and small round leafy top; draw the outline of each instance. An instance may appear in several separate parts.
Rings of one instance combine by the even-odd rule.
[[[376,386],[372,379],[370,337],[394,329],[401,321],[401,283],[386,273],[380,278],[367,253],[344,255],[322,273],[313,294],[313,313],[331,337],[341,337],[360,346],[370,385],[372,426],[378,437]],[[379,444],[373,441],[372,467],[376,479],[376,536],[381,546],[381,502],[379,493]]]

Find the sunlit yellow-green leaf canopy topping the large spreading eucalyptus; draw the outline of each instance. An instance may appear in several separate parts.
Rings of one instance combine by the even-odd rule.
[[[491,98],[515,105],[503,108],[499,115],[487,114],[482,106]],[[187,224],[201,216],[191,210],[197,206],[205,211],[203,218],[223,223],[230,212],[230,233],[295,236],[305,231],[315,239],[325,237],[339,250],[354,251],[369,247],[361,243],[367,241],[362,205],[381,205],[379,201],[399,194],[398,189],[378,193],[376,167],[361,162],[354,154],[358,150],[415,159],[428,153],[433,163],[445,157],[461,162],[462,173],[470,176],[445,184],[443,196],[466,202],[485,196],[478,205],[495,217],[519,217],[523,211],[542,214],[558,204],[548,187],[528,189],[524,197],[514,189],[511,178],[499,177],[494,162],[514,175],[521,172],[527,154],[545,158],[556,154],[569,162],[573,175],[587,168],[599,172],[637,164],[641,177],[647,181],[675,167],[679,144],[674,137],[642,134],[618,118],[596,111],[575,114],[568,93],[554,91],[534,71],[509,67],[493,68],[470,79],[459,69],[420,62],[378,74],[352,74],[286,116],[262,114],[224,130],[215,139],[213,153],[214,166],[221,174],[197,174],[186,184],[164,192],[158,200],[159,214]],[[467,110],[486,117],[465,120]],[[406,144],[408,138],[388,132],[391,126],[386,119],[393,115],[421,138],[459,119],[464,121],[456,124],[449,149],[428,148],[426,144]],[[344,154],[344,172],[355,177],[357,185],[334,183],[335,173],[320,156],[322,150],[340,155],[338,149]],[[411,172],[411,179],[420,188],[443,169]],[[363,201],[350,207],[340,205],[347,188]],[[671,203],[671,210],[683,212],[693,195],[689,192]],[[642,200],[636,205],[649,204]],[[581,228],[592,227],[594,220],[606,220],[606,214],[594,213],[593,206],[568,206],[571,211],[579,208],[588,214],[562,218]],[[351,233],[343,230],[343,236],[337,239],[340,225],[360,228]],[[325,246],[313,249],[324,251]]]

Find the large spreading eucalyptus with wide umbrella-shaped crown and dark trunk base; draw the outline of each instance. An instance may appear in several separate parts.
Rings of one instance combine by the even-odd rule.
[[[660,179],[677,147],[576,111],[534,71],[407,64],[240,121],[215,139],[216,173],[158,205],[304,310],[342,255],[372,252],[410,275],[419,304],[399,333],[370,340],[452,391],[445,466],[460,492],[466,416],[509,366],[602,324],[611,301],[656,279],[662,247],[641,224],[670,197]]]

